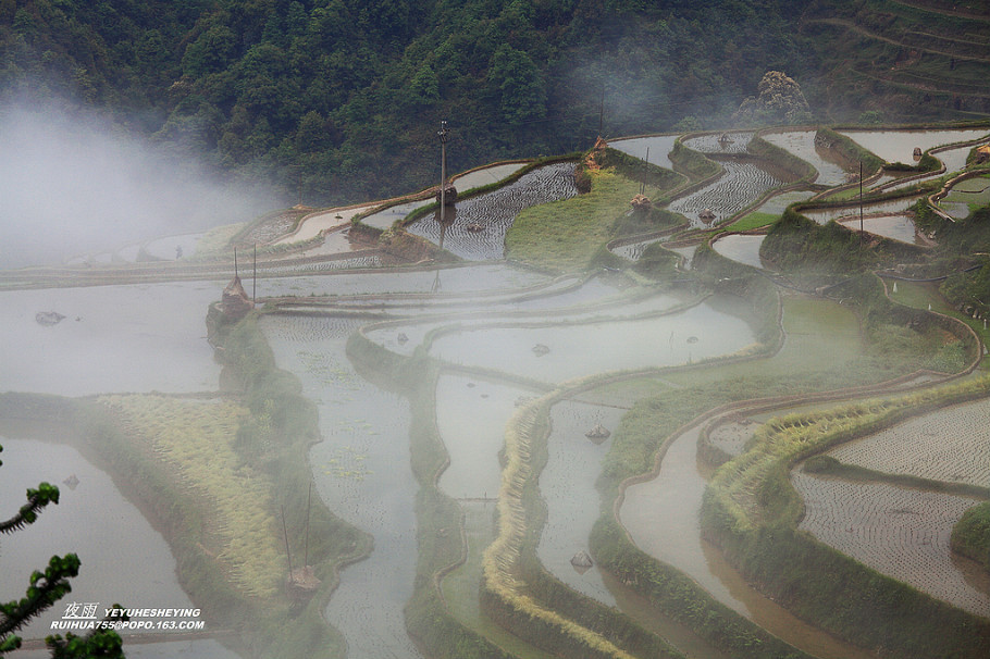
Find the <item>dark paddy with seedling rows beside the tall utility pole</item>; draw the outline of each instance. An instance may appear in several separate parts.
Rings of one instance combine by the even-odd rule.
[[[458,201],[453,224],[445,231],[437,216],[419,220],[407,231],[436,245],[443,237],[444,249],[468,261],[502,259],[506,232],[521,210],[577,194],[573,163],[547,165],[497,190]]]

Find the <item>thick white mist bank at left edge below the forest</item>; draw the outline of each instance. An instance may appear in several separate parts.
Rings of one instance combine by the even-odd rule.
[[[211,181],[202,163],[46,109],[0,111],[0,264],[57,264],[138,240],[251,220],[284,204]]]

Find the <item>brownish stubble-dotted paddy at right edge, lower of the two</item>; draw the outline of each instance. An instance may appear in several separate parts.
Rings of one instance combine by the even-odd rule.
[[[977,499],[793,472],[805,503],[800,529],[862,563],[931,596],[990,616],[990,594],[951,559],[952,526]]]

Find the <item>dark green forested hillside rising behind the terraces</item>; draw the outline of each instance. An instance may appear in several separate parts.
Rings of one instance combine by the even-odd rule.
[[[722,127],[770,70],[818,121],[990,112],[986,14],[931,0],[0,0],[0,96],[95,107],[180,156],[344,202],[432,183],[441,120],[456,171],[586,148],[599,128]]]

